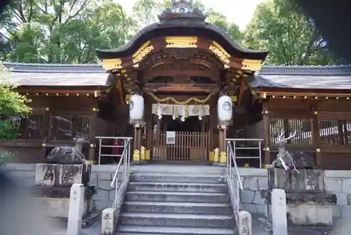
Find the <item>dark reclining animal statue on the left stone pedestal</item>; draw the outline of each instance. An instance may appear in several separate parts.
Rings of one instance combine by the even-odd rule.
[[[50,164],[83,164],[86,163],[85,156],[82,153],[83,140],[79,139],[76,146],[60,146],[53,148],[48,153],[47,162]]]

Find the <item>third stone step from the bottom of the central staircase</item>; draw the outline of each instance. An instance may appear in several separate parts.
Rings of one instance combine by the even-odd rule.
[[[230,203],[175,203],[157,201],[126,201],[122,207],[122,212],[232,215]]]

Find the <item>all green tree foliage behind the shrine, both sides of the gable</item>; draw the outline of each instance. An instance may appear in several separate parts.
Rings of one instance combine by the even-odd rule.
[[[194,5],[206,21],[244,47],[268,50],[266,63],[340,63],[313,20],[289,0],[260,4],[244,32],[225,15]],[[131,17],[114,0],[12,0],[0,16],[0,59],[24,63],[98,63],[95,49],[116,48],[140,28],[156,23],[171,0],[138,0]]]

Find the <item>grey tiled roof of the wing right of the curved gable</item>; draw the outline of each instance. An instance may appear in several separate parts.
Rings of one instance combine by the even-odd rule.
[[[351,89],[351,65],[265,66],[250,87],[295,89]]]

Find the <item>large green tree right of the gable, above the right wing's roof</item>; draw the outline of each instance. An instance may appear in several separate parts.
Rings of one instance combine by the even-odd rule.
[[[245,46],[268,50],[274,65],[329,65],[340,63],[313,20],[289,0],[267,0],[256,8],[245,32]]]

